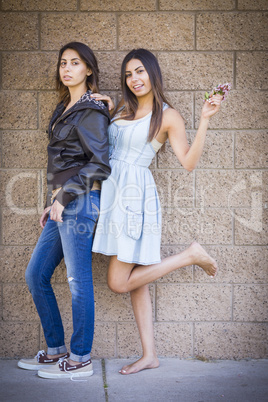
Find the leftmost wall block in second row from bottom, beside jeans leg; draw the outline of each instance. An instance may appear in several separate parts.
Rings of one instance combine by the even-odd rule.
[[[3,319],[4,321],[38,321],[35,304],[26,284],[3,285]]]

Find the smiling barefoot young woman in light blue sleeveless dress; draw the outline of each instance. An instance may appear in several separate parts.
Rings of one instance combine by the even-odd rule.
[[[192,171],[203,151],[209,119],[219,111],[222,96],[204,103],[196,137],[189,147],[184,122],[166,100],[155,56],[132,50],[121,70],[123,100],[109,126],[110,165],[102,184],[100,218],[93,251],[111,256],[108,286],[116,293],[130,292],[143,356],[124,366],[121,374],[156,368],[152,306],[148,284],[189,265],[198,265],[212,278],[217,264],[197,242],[185,251],[160,258],[161,208],[149,165],[162,144],[170,145],[182,166]],[[96,99],[111,99],[93,94]]]

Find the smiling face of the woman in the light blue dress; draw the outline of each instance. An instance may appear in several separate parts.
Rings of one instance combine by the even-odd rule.
[[[126,84],[137,97],[145,96],[152,91],[149,75],[138,59],[132,59],[126,64]]]

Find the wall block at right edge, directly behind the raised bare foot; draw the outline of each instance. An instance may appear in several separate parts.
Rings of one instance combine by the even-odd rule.
[[[218,272],[212,282],[216,283],[267,283],[268,250],[265,246],[206,246],[206,251],[217,261]],[[204,271],[194,268],[195,282],[211,279]]]

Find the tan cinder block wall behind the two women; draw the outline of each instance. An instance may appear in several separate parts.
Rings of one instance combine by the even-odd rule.
[[[96,52],[101,91],[115,99],[127,51],[152,50],[189,141],[204,92],[232,83],[228,101],[211,120],[198,168],[183,170],[169,145],[151,166],[163,206],[163,256],[197,239],[219,264],[215,280],[187,267],[150,285],[155,338],[160,356],[267,356],[267,6],[266,0],[2,0],[2,357],[45,348],[24,272],[41,231],[57,52],[71,40]],[[107,264],[94,256],[93,356],[139,355],[129,295],[107,288]],[[53,283],[68,343],[64,263]]]

